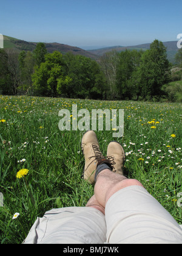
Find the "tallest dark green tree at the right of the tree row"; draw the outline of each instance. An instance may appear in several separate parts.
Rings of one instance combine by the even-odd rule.
[[[161,41],[154,40],[150,44],[150,49],[142,55],[138,77],[142,98],[161,97],[162,86],[170,82],[170,63],[167,60],[166,48]]]

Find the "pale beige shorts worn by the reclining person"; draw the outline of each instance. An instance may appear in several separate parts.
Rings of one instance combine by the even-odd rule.
[[[180,225],[143,187],[116,192],[105,210],[52,209],[36,219],[24,244],[182,243]]]

